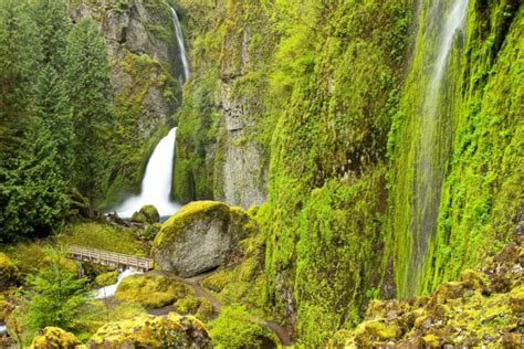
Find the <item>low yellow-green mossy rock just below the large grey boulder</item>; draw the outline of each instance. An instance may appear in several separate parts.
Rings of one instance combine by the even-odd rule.
[[[116,289],[116,299],[130,300],[146,308],[161,308],[178,299],[192,296],[193,290],[177,281],[161,275],[132,275]]]

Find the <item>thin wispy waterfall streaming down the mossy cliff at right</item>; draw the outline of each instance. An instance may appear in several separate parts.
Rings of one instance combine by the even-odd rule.
[[[442,1],[436,6],[442,6]],[[468,0],[452,0],[447,15],[439,15],[439,30],[434,50],[436,57],[431,61],[431,76],[425,88],[421,115],[419,116],[420,134],[417,149],[417,165],[413,186],[413,202],[411,210],[412,245],[408,271],[405,279],[406,293],[417,292],[418,279],[423,267],[425,257],[431,236],[437,230],[440,195],[444,179],[447,161],[447,135],[451,123],[450,108],[443,104],[444,94],[449,86],[446,78],[450,53],[453,49],[453,38],[462,32],[467,15]],[[452,82],[450,82],[452,83]]]

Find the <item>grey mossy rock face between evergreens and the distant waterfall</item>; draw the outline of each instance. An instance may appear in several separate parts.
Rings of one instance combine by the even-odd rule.
[[[180,70],[170,8],[163,0],[70,1],[73,22],[93,18],[112,64],[114,105],[122,121],[120,166],[113,171],[107,204],[136,191],[145,160],[180,104]],[[153,138],[153,139],[151,139]],[[137,170],[139,169],[139,170]]]

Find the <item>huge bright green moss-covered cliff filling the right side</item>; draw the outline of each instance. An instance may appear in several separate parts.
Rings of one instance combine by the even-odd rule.
[[[522,6],[461,3],[441,54],[452,0],[180,1],[175,194],[265,201],[266,308],[304,343],[458,278],[522,220]]]

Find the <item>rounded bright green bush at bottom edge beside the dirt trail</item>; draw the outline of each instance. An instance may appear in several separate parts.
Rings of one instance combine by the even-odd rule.
[[[222,308],[209,324],[211,339],[217,348],[266,348],[274,346],[274,335],[251,317],[243,306]]]

